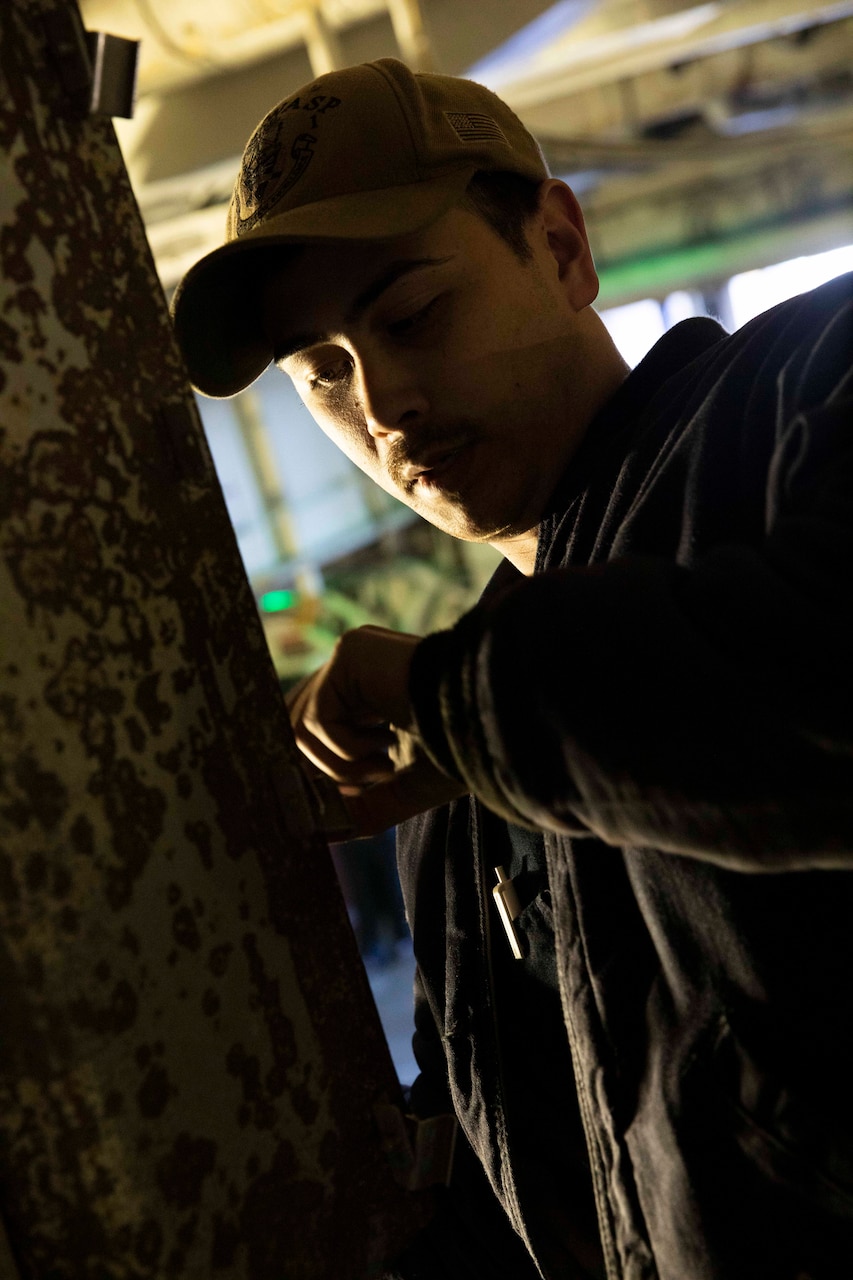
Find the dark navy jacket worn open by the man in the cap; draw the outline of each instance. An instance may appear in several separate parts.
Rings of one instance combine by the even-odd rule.
[[[535,576],[418,649],[423,744],[478,800],[398,836],[414,1105],[465,1134],[401,1274],[853,1275],[852,366],[850,276],[676,326],[593,422]],[[525,828],[562,1005],[525,1023],[526,1084],[489,902]]]

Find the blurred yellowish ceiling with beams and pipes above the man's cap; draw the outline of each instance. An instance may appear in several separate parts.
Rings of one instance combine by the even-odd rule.
[[[382,56],[494,88],[581,198],[607,305],[853,242],[853,0],[82,0],[142,40],[117,122],[167,289],[257,120]]]

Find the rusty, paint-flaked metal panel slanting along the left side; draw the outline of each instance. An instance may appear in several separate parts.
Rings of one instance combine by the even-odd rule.
[[[0,9],[0,1221],[26,1280],[359,1277],[398,1084],[58,12]]]

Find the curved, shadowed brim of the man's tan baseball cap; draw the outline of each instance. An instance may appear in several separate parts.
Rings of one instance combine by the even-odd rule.
[[[214,399],[245,390],[273,360],[260,292],[284,251],[311,241],[388,239],[428,227],[462,195],[474,169],[337,196],[265,219],[202,257],[172,298],[175,335],[193,388]]]

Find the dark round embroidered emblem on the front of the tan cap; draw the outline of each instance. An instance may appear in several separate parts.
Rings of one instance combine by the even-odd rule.
[[[269,113],[248,141],[240,168],[232,210],[237,234],[251,230],[293,187],[311,160],[316,148],[316,133],[307,129],[293,136],[298,124],[319,129],[325,111],[341,106],[339,97],[324,93],[292,97]],[[291,118],[291,113],[300,114]],[[307,118],[306,118],[307,115]]]

